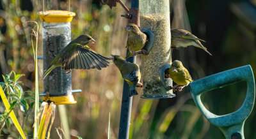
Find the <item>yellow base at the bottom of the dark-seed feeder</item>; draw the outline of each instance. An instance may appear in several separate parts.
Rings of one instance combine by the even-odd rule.
[[[43,97],[44,101],[52,101],[54,105],[69,105],[69,104],[76,104],[76,100],[74,99],[74,96],[68,95],[68,96],[47,96]]]

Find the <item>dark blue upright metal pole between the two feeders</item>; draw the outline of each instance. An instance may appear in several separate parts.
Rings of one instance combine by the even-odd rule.
[[[139,0],[132,0],[131,8],[139,8]],[[140,18],[139,12],[132,13],[132,15],[135,18]],[[137,21],[137,22],[132,22],[132,21]],[[138,20],[129,20],[129,22],[132,22],[137,25],[140,24]],[[129,57],[128,59],[126,59],[126,61],[135,63],[136,57]],[[129,138],[131,110],[132,110],[132,97],[129,97],[129,85],[127,84],[127,82],[124,81],[118,139]]]

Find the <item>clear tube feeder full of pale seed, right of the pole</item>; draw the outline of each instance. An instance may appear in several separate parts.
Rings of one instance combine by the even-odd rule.
[[[140,25],[154,33],[154,44],[147,55],[141,55],[143,95],[141,98],[172,98],[172,80],[164,78],[170,68],[171,31],[169,0],[140,1]]]

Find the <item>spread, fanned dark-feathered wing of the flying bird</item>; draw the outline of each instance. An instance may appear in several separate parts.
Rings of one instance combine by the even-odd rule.
[[[72,52],[63,55],[62,68],[67,69],[101,69],[109,64],[107,57],[104,57],[89,48],[83,47],[77,43],[72,45]]]

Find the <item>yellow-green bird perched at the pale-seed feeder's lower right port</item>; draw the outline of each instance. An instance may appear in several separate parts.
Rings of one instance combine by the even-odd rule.
[[[183,87],[187,86],[190,82],[193,82],[188,70],[184,68],[182,62],[178,60],[172,62],[171,68],[169,69],[169,74],[173,82],[177,84],[173,86],[173,91],[176,89],[178,89],[178,91],[182,91]]]

